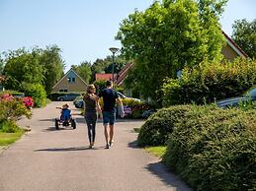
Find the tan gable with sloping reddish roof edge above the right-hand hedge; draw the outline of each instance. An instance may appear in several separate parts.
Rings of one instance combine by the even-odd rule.
[[[225,32],[222,33],[226,39],[226,44],[221,49],[224,59],[234,61],[234,59],[239,56],[245,58],[248,57],[248,55]]]

